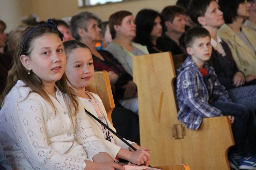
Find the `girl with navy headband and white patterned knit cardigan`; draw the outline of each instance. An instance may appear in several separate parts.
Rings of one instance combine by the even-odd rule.
[[[0,141],[14,169],[122,169],[91,129],[68,87],[63,34],[28,27],[0,98]]]

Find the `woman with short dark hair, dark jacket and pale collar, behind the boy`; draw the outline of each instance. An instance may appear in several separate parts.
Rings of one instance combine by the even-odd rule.
[[[256,111],[256,85],[246,86],[245,76],[238,69],[228,44],[217,35],[218,28],[224,24],[217,2],[192,0],[189,15],[194,23],[210,32],[213,49],[208,63],[214,67],[219,82],[228,90],[232,101]]]

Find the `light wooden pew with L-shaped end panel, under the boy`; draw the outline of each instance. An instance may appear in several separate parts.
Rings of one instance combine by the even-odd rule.
[[[150,148],[151,165],[188,164],[193,170],[229,170],[234,145],[227,117],[204,118],[198,130],[177,120],[170,52],[134,56],[133,81],[139,98],[140,140]]]

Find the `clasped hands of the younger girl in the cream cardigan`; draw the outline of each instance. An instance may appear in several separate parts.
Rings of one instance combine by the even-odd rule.
[[[141,165],[145,163],[145,166],[150,164],[150,154],[147,152],[149,148],[142,148],[134,152],[130,152],[129,161],[133,164]]]

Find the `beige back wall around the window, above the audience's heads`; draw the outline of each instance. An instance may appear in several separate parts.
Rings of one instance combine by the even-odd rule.
[[[136,16],[143,8],[151,8],[160,12],[163,7],[175,3],[176,0],[132,0],[80,8],[77,0],[0,0],[0,19],[6,23],[6,32],[9,32],[21,24],[22,16],[32,13],[37,14],[40,20],[47,20],[89,11],[97,14],[102,20],[108,20],[112,13],[119,10],[130,11]]]

